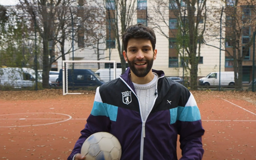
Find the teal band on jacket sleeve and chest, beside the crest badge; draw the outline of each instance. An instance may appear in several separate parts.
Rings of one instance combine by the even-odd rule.
[[[116,121],[118,107],[94,101],[92,112],[93,116],[107,116],[111,121]]]

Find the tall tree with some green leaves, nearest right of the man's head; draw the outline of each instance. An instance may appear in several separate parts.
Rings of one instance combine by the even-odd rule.
[[[198,62],[207,17],[206,1],[154,0],[155,15],[149,15],[149,24],[158,33],[165,36],[170,43],[172,37],[176,38],[175,47],[181,57],[182,66],[190,72],[192,90],[197,90]],[[169,21],[170,17],[175,21]],[[181,50],[183,47],[184,52]],[[186,62],[190,66],[185,65]]]

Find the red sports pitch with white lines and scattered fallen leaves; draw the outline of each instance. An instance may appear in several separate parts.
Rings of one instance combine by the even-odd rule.
[[[84,99],[0,101],[0,158],[64,160],[89,116],[94,95]],[[256,160],[256,106],[209,98],[198,103],[205,134],[203,160]],[[254,113],[250,113],[248,111]],[[181,157],[179,142],[178,157]]]

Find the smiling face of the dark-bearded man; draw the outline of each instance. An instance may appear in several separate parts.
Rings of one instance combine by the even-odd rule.
[[[124,51],[123,55],[132,72],[137,77],[144,77],[151,71],[156,53],[150,40],[131,38],[127,44],[127,53]]]

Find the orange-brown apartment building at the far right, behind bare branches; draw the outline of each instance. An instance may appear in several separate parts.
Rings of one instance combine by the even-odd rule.
[[[241,52],[241,56],[244,57],[242,61],[243,66],[243,82],[252,81],[252,64],[253,64],[253,44],[247,46],[252,41],[252,35],[255,31],[256,14],[255,6],[256,1],[238,1],[237,7],[235,6],[235,0],[229,0],[226,4],[226,42],[225,49],[225,71],[234,71],[233,64],[234,52]],[[236,13],[236,17],[234,17]],[[234,30],[241,30],[241,34],[235,34]],[[238,39],[239,44],[234,42]],[[234,51],[233,44],[240,48],[240,51],[236,49]]]

